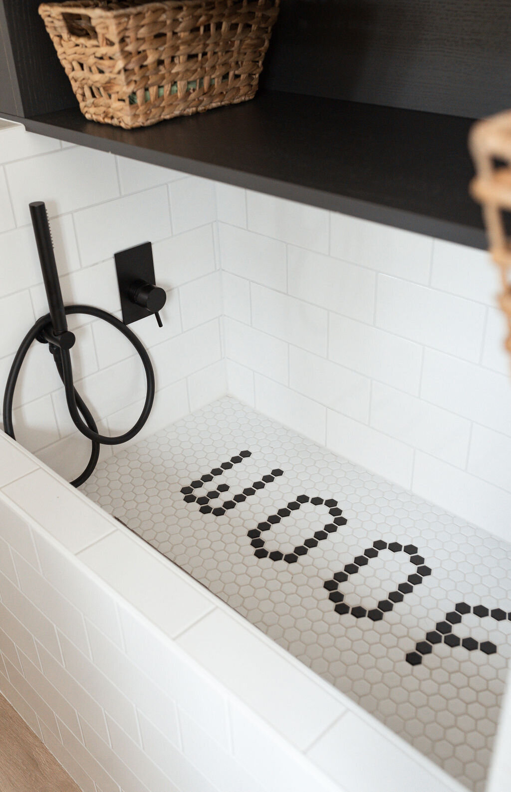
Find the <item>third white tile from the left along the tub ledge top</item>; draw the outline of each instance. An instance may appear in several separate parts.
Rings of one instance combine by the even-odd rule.
[[[83,550],[79,558],[170,636],[211,610],[210,601],[176,574],[168,559],[121,531]],[[180,607],[168,607],[172,602],[179,602]]]

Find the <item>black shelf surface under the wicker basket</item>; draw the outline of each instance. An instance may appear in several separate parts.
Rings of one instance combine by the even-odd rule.
[[[76,109],[16,119],[30,131],[231,185],[486,247],[455,116],[261,91],[252,101],[125,131]]]

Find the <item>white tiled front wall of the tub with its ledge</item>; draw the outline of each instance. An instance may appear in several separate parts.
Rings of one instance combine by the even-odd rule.
[[[0,512],[0,689],[84,792],[463,792],[2,433]]]

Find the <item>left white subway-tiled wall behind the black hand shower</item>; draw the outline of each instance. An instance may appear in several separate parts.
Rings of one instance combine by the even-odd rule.
[[[153,242],[157,283],[168,302],[161,316],[132,326],[153,357],[157,375],[150,433],[225,394],[221,354],[221,278],[214,249],[214,185],[156,166],[115,158],[0,128],[0,391],[28,328],[47,301],[28,203],[44,200],[66,303],[103,308],[120,318],[113,254]],[[285,246],[283,272],[286,271]],[[144,396],[133,348],[100,320],[69,318],[77,333],[75,383],[104,432],[122,433]],[[157,347],[160,350],[157,351]],[[200,377],[201,370],[204,375]],[[67,413],[47,347],[32,345],[14,398],[17,438],[65,478],[89,455]],[[102,457],[112,447],[104,447]],[[0,472],[0,484],[2,473]]]

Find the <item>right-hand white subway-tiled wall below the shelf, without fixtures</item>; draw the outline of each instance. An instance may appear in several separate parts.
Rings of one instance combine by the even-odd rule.
[[[490,257],[239,188],[217,198],[229,393],[511,539]]]

